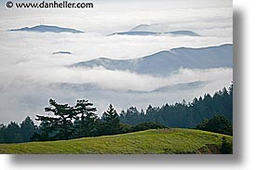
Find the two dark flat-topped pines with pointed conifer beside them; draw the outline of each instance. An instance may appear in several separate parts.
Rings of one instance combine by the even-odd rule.
[[[40,121],[40,132],[35,133],[33,140],[59,140],[77,137],[97,137],[122,133],[119,116],[113,105],[100,117],[97,109],[86,99],[77,100],[74,107],[49,100],[45,108],[47,116],[36,115]]]

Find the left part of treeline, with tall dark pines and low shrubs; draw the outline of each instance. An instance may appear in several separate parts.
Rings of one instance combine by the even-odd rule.
[[[77,100],[74,107],[50,99],[49,107],[45,108],[45,111],[47,116],[36,115],[35,120],[40,122],[38,126],[30,117],[21,124],[14,122],[7,125],[0,124],[0,143],[98,137],[166,128],[155,123],[121,124],[113,105],[110,105],[100,118],[95,113],[97,109],[86,99]]]

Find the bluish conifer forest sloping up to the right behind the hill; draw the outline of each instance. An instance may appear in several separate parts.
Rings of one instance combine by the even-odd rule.
[[[222,115],[232,122],[233,120],[233,85],[228,90],[224,87],[213,96],[206,94],[204,98],[194,98],[192,102],[160,107],[148,106],[146,111],[138,111],[136,107],[130,107],[127,111],[121,111],[120,122],[124,124],[140,124],[143,122],[155,122],[168,127],[194,128],[205,119],[215,115]]]

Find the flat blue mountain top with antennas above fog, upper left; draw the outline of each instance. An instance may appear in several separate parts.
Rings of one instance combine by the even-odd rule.
[[[9,32],[36,32],[36,33],[84,33],[71,28],[62,28],[50,25],[37,25],[34,27],[24,27],[20,29],[8,30]]]

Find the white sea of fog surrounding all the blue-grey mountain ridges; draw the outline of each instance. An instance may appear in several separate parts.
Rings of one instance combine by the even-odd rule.
[[[19,1],[21,2],[21,1]],[[23,1],[22,1],[23,2]],[[90,9],[7,9],[0,3],[0,123],[20,122],[26,115],[44,114],[49,98],[74,105],[78,98],[88,98],[98,114],[110,102],[117,111],[148,104],[192,100],[230,85],[232,69],[181,69],[165,78],[133,72],[71,69],[65,66],[98,59],[138,59],[174,47],[219,46],[233,43],[233,9],[230,0],[180,1],[90,1]],[[56,25],[83,31],[74,33],[7,32],[39,24]],[[127,32],[140,24],[151,31],[190,30],[199,37],[174,36],[108,36]],[[55,51],[73,54],[52,55]],[[130,95],[114,92],[67,90],[52,84],[95,83],[114,90],[153,90],[163,85],[207,81],[208,85],[172,94]],[[109,94],[110,93],[110,94]],[[107,98],[106,95],[112,98]]]

